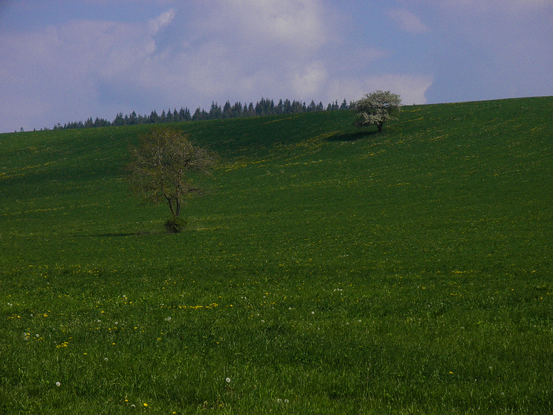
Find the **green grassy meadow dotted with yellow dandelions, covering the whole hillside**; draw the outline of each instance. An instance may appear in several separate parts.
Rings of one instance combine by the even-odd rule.
[[[0,135],[0,413],[550,414],[553,97]]]

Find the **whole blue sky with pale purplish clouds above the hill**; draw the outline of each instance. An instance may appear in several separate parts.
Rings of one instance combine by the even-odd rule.
[[[379,89],[553,95],[553,0],[0,0],[0,133]]]

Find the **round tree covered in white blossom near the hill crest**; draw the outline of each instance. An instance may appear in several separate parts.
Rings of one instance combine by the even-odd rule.
[[[359,128],[376,125],[378,132],[382,132],[384,122],[393,119],[393,116],[400,112],[401,103],[400,95],[390,91],[368,93],[353,104],[357,111],[355,125]]]

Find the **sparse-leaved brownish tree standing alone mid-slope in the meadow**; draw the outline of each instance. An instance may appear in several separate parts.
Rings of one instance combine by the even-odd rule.
[[[126,171],[131,190],[144,201],[166,203],[173,219],[180,215],[185,199],[203,194],[198,178],[209,174],[217,162],[216,154],[194,145],[177,129],[153,129],[140,136],[138,146],[129,152]]]

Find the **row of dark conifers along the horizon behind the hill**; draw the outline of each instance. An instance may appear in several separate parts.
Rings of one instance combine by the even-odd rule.
[[[104,118],[96,118],[95,120],[88,118],[85,122],[76,121],[68,122],[64,125],[57,123],[54,129],[77,129],[77,128],[93,128],[93,127],[109,127],[111,125],[137,125],[137,124],[158,124],[162,122],[178,122],[178,121],[199,121],[199,120],[220,120],[223,118],[239,118],[239,117],[255,117],[255,116],[272,116],[277,114],[293,114],[315,111],[339,111],[348,109],[350,104],[344,101],[338,104],[338,101],[332,102],[324,107],[322,102],[315,104],[311,101],[306,105],[306,102],[279,100],[278,104],[274,104],[273,100],[261,98],[255,105],[253,102],[250,104],[236,102],[234,105],[229,101],[225,102],[225,105],[221,107],[217,102],[212,102],[212,106],[209,111],[200,109],[198,107],[194,114],[190,113],[188,108],[180,107],[180,110],[176,108],[165,109],[160,114],[156,110],[151,111],[150,115],[140,115],[133,111],[130,115],[118,113],[113,121],[104,120]]]

